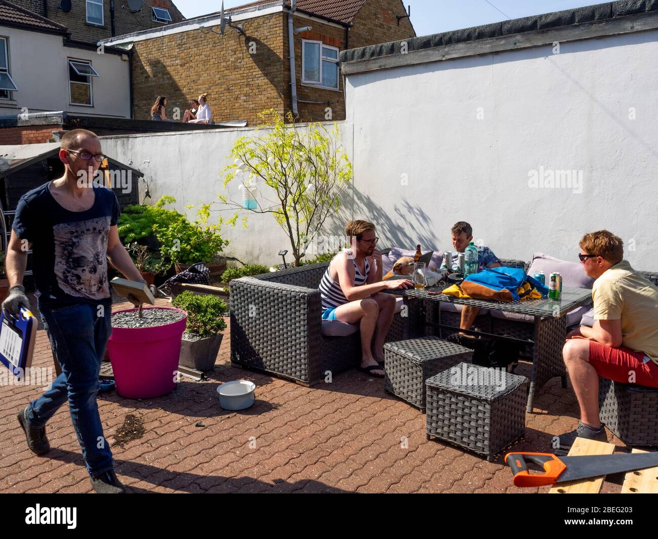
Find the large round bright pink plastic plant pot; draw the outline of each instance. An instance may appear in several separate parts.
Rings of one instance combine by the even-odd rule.
[[[155,328],[112,328],[107,342],[116,381],[116,392],[128,399],[151,399],[176,388],[180,342],[188,315]],[[146,309],[145,309],[146,310]],[[130,313],[137,309],[125,309]],[[116,313],[115,313],[116,314]]]

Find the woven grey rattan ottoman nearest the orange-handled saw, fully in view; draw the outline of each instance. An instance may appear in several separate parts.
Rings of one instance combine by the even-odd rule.
[[[428,378],[426,386],[428,440],[440,438],[491,460],[525,432],[525,376],[460,363]]]

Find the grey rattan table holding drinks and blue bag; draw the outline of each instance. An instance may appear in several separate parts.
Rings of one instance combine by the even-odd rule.
[[[404,298],[405,305],[411,301],[449,301],[457,305],[472,305],[473,307],[482,307],[486,309],[499,309],[507,313],[520,313],[534,317],[534,343],[532,352],[532,375],[530,376],[530,390],[528,392],[528,404],[526,411],[532,412],[535,392],[540,390],[544,384],[553,378],[560,376],[563,387],[567,384],[567,370],[562,359],[562,348],[565,344],[567,335],[567,313],[587,305],[592,301],[592,291],[584,288],[564,288],[562,297],[559,301],[554,299],[524,299],[504,303],[502,301],[493,301],[487,299],[463,299],[451,295],[442,294],[441,286],[432,286],[424,290],[385,290],[389,294],[401,295]],[[463,331],[476,335],[488,335],[494,338],[501,338],[499,335],[488,334],[484,332],[472,332],[471,330],[460,330],[455,326],[447,326],[441,323],[441,309],[438,309],[439,321],[428,322],[424,324],[435,326],[442,329]],[[515,338],[505,337],[508,340],[524,342]]]

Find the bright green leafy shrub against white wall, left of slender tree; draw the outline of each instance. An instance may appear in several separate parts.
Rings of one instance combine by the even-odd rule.
[[[226,259],[220,256],[228,245],[219,234],[220,224],[208,224],[210,205],[205,204],[197,211],[198,219],[190,222],[179,215],[166,226],[155,224],[153,230],[161,243],[161,253],[174,263],[176,272],[181,272],[197,262],[210,269],[211,276],[226,269]]]

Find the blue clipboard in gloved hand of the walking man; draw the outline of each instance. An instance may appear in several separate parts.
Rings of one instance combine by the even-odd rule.
[[[0,362],[14,376],[22,376],[32,367],[34,342],[39,322],[25,307],[20,307],[17,318],[5,317],[0,311]]]

